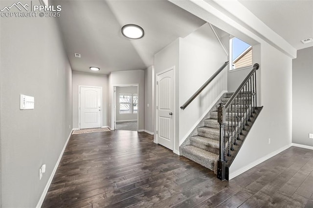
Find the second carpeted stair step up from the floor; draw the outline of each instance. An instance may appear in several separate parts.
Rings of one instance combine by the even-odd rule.
[[[193,136],[190,138],[190,144],[197,146],[214,154],[219,154],[220,142],[201,136]]]

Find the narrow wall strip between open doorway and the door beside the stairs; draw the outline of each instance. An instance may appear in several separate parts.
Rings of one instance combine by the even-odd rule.
[[[155,132],[154,73],[154,66],[145,70],[145,130],[151,134]]]

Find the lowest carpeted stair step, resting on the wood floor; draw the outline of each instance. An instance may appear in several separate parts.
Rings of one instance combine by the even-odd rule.
[[[219,155],[192,145],[181,147],[180,153],[182,156],[189,158],[190,160],[193,160],[210,170],[213,170],[214,173],[217,172],[217,161],[219,159]]]

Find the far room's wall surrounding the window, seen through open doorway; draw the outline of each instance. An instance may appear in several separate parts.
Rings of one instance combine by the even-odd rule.
[[[137,86],[116,87],[116,121],[137,121],[137,113],[119,113],[119,94],[137,94]]]

